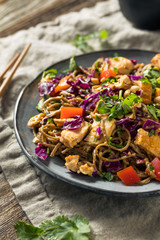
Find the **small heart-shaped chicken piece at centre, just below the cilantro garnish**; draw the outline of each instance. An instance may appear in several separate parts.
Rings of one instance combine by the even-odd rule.
[[[115,123],[115,119],[112,119],[111,121],[109,121],[107,118],[102,119],[101,125],[102,125],[102,131],[104,136],[108,139],[113,131],[116,128],[116,123]]]

